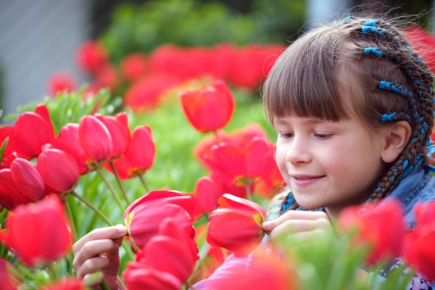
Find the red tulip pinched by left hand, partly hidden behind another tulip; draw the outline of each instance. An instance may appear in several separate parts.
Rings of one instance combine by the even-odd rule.
[[[134,251],[143,248],[149,239],[156,236],[159,225],[167,216],[177,219],[184,231],[191,237],[195,236],[191,216],[193,201],[189,195],[181,195],[175,191],[151,191],[126,209],[124,223]]]

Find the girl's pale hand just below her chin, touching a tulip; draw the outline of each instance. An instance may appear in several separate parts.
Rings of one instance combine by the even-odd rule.
[[[276,241],[284,235],[307,242],[318,239],[319,234],[333,232],[331,221],[324,211],[287,211],[282,216],[263,223],[263,229]]]

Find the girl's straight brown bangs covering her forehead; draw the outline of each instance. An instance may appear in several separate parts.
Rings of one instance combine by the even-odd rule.
[[[339,45],[330,33],[307,33],[284,51],[263,84],[270,122],[288,115],[333,122],[349,118],[334,81]]]

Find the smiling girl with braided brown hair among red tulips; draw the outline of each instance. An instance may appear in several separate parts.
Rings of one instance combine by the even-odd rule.
[[[341,209],[385,198],[402,202],[412,229],[416,202],[435,200],[427,166],[432,74],[391,19],[354,15],[305,33],[274,64],[263,102],[288,185],[274,202],[277,218],[263,223],[270,239],[289,229],[309,239],[331,230],[329,220]],[[104,271],[110,289],[121,289],[117,239],[125,234],[124,227],[108,227],[77,241],[77,275]],[[213,289],[243,263],[230,256],[195,289]]]

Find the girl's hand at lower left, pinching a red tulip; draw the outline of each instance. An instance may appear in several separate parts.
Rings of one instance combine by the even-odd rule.
[[[72,245],[74,260],[72,265],[78,277],[90,277],[101,272],[104,277],[95,281],[94,289],[101,289],[104,280],[111,290],[124,289],[119,282],[120,245],[127,234],[124,225],[94,229]]]

